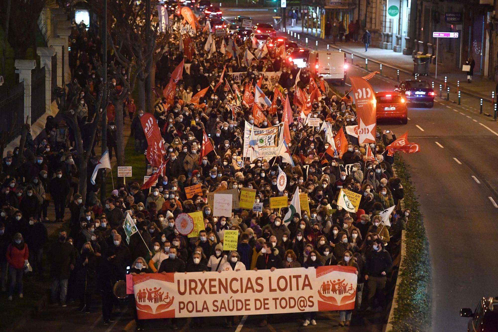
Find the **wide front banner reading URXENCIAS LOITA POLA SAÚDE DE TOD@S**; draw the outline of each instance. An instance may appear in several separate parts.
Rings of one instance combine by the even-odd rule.
[[[164,261],[163,263],[164,264]],[[355,308],[350,266],[135,275],[138,319],[287,314]]]

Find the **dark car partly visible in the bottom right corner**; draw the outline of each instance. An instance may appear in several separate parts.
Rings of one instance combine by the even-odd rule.
[[[498,297],[483,298],[474,312],[463,308],[460,316],[472,318],[467,325],[468,332],[498,332]]]

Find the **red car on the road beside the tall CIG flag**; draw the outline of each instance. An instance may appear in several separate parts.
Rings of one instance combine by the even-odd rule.
[[[377,101],[377,120],[397,119],[401,120],[402,124],[408,122],[406,100],[399,92],[376,92],[375,97]]]

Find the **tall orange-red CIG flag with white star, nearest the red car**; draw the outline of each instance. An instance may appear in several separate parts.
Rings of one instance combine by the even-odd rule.
[[[355,104],[358,114],[359,143],[375,143],[377,125],[375,109],[375,92],[363,77],[350,77],[352,90],[355,92]]]

